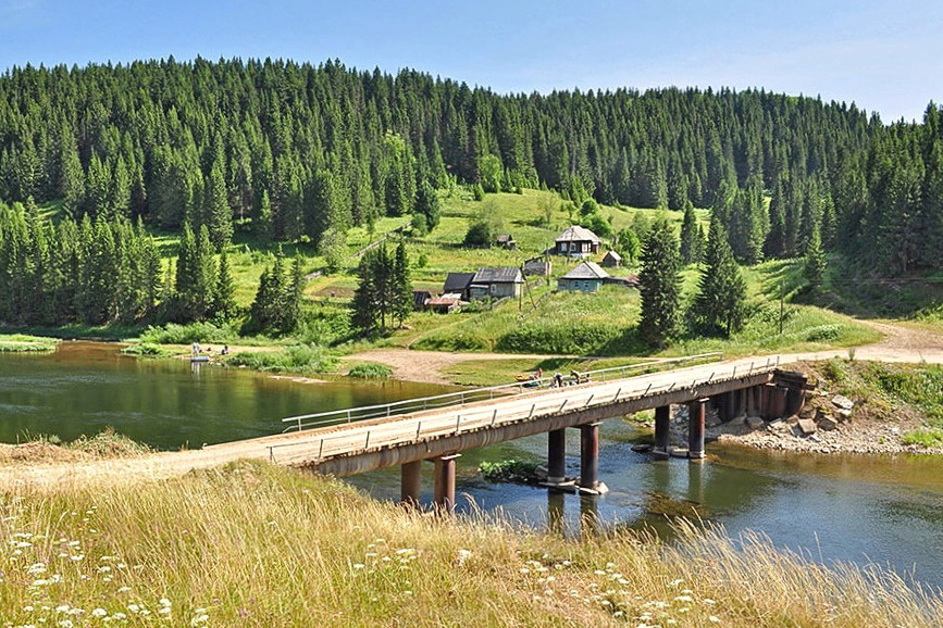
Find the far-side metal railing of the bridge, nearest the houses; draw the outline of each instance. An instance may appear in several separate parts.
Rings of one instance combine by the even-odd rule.
[[[608,368],[597,368],[594,370],[579,372],[575,375],[563,376],[562,384],[564,386],[573,386],[586,381],[592,382],[606,381],[609,379],[620,379],[626,377],[630,374],[637,374],[640,370],[657,368],[659,366],[691,365],[696,363],[712,362],[722,359],[723,354],[719,351],[715,351],[710,353],[699,353],[697,355],[686,355],[683,357],[652,360],[648,362],[640,362],[636,364],[626,364],[624,366],[611,366]],[[485,401],[488,399],[495,399],[496,397],[516,393],[520,394],[525,391],[550,388],[554,385],[555,377],[548,376],[538,379],[526,379],[523,381],[517,381],[514,384],[502,384],[500,386],[473,388],[469,390],[460,390],[457,392],[435,394],[432,397],[406,399],[402,401],[394,401],[392,403],[363,405],[345,410],[332,410],[314,414],[289,416],[282,419],[282,423],[290,424],[282,431],[301,431],[303,429],[314,429],[319,427],[330,427],[333,425],[344,425],[358,420],[367,420],[370,418],[398,416],[401,414],[410,414],[424,410],[435,410],[438,407],[445,407],[450,405],[464,405],[466,403]]]

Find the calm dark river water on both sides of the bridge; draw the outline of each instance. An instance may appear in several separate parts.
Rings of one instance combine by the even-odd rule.
[[[121,356],[114,346],[65,342],[53,354],[0,354],[0,441],[55,434],[73,439],[106,427],[160,449],[280,431],[281,418],[434,394],[405,382],[297,382],[245,369]],[[568,436],[568,473],[579,474],[579,432]],[[546,436],[468,451],[457,466],[458,507],[483,508],[535,527],[576,533],[597,526],[654,528],[671,535],[672,515],[697,516],[736,535],[765,532],[810,558],[890,566],[943,586],[943,460],[921,456],[811,455],[708,444],[709,461],[653,462],[634,453],[645,431],[618,419],[600,428],[600,498],[548,494],[491,483],[483,461],[543,463]],[[432,465],[424,465],[424,501]],[[397,499],[398,469],[349,478],[379,499]]]

